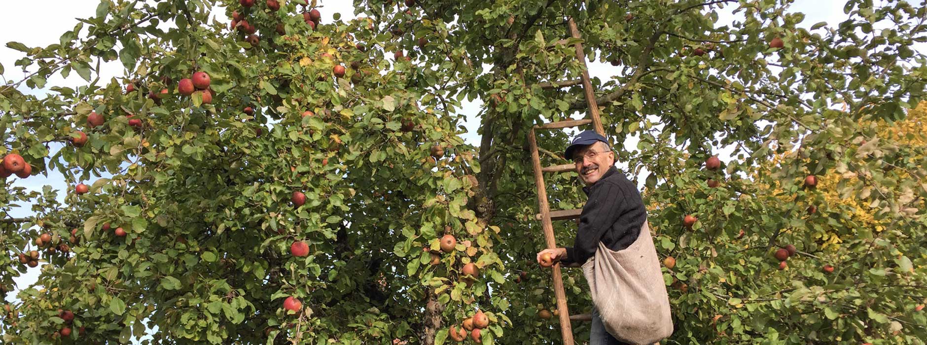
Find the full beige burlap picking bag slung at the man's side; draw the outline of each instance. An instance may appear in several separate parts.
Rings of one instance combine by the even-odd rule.
[[[616,339],[653,344],[673,334],[667,287],[646,221],[627,249],[615,251],[599,242],[582,273],[605,330]]]

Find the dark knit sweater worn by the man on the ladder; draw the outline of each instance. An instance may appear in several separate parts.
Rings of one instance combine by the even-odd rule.
[[[612,250],[627,249],[641,234],[647,220],[637,185],[612,166],[602,179],[582,188],[589,201],[579,215],[579,230],[573,247],[566,248],[564,263],[585,263],[599,248],[599,242]]]

